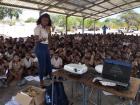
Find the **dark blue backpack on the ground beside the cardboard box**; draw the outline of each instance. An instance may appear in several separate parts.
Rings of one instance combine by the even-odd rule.
[[[68,105],[69,101],[66,96],[62,82],[54,82],[53,100],[52,100],[52,84],[46,87],[45,105]]]

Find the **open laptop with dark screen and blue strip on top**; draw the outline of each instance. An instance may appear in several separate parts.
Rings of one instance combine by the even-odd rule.
[[[129,87],[132,65],[128,62],[106,59],[103,64],[103,81],[116,83],[117,86]]]

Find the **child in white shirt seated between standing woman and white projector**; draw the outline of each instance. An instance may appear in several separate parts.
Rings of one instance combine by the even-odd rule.
[[[54,56],[51,58],[51,63],[54,69],[62,68],[63,61],[61,57],[59,57],[58,52],[55,52]]]

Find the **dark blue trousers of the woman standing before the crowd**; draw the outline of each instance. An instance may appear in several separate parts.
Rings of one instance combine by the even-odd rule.
[[[43,80],[44,75],[51,74],[52,65],[50,53],[47,44],[37,43],[35,47],[35,54],[38,58],[38,73],[40,80]]]

